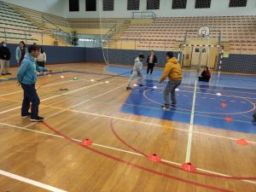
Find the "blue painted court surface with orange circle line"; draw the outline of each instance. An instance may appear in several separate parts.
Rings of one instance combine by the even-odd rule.
[[[106,67],[109,72],[117,74],[131,69],[132,67]],[[213,74],[210,82],[206,83],[197,81],[198,73],[185,71],[183,83],[176,91],[177,108],[164,111],[160,109],[160,105],[164,103],[166,82],[159,84],[158,81],[162,71],[154,69],[152,75],[147,75],[143,69],[146,74],[145,86],[131,90],[131,95],[121,108],[122,113],[190,123],[195,92],[195,125],[256,134],[256,120],[253,119],[253,113],[256,112],[255,76],[221,73],[218,77]],[[130,73],[125,74],[125,77],[129,76]],[[154,86],[157,88],[154,89]]]

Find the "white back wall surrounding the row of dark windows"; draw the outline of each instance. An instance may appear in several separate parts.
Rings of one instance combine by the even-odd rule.
[[[85,11],[85,0],[79,0],[79,12],[68,12],[66,1],[66,16],[69,18],[95,18],[99,17],[128,17],[133,11],[127,10],[127,0],[114,0],[114,11],[102,11],[102,0],[96,0],[97,11]],[[158,17],[177,16],[207,16],[207,15],[256,15],[256,0],[247,0],[247,7],[229,8],[230,0],[212,0],[210,9],[195,9],[195,0],[187,0],[187,9],[172,9],[172,0],[160,0],[160,9],[152,10]],[[140,0],[139,11],[147,10],[147,0]]]

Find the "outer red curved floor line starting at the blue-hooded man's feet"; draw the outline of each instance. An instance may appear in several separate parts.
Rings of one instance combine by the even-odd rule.
[[[174,180],[183,182],[183,183],[189,183],[189,184],[192,184],[192,185],[195,185],[195,186],[199,186],[199,187],[202,187],[202,188],[205,188],[205,189],[212,189],[212,190],[221,191],[221,192],[234,192],[234,191],[227,190],[227,189],[220,189],[220,188],[212,187],[212,186],[210,186],[210,185],[206,185],[206,184],[202,184],[202,183],[196,183],[196,182],[189,181],[189,180],[186,180],[186,179],[183,179],[183,178],[180,178],[180,177],[175,177],[175,176],[172,176],[172,175],[163,173],[163,172],[157,172],[157,171],[154,171],[153,169],[149,169],[149,168],[144,167],[144,166],[138,166],[137,164],[131,163],[131,162],[126,161],[126,160],[119,159],[119,158],[114,157],[114,156],[112,156],[112,155],[110,155],[110,154],[105,154],[105,153],[103,153],[103,152],[101,152],[101,151],[99,151],[99,150],[96,150],[96,149],[94,149],[94,148],[90,148],[89,146],[84,146],[84,145],[82,145],[81,143],[74,141],[72,138],[67,137],[66,135],[64,135],[64,134],[61,133],[60,131],[55,130],[55,128],[51,127],[51,126],[48,125],[47,123],[42,122],[42,124],[45,125],[47,128],[49,128],[49,130],[54,131],[57,135],[66,138],[66,139],[67,139],[69,142],[71,142],[71,143],[76,143],[76,144],[78,144],[78,145],[79,145],[80,147],[82,147],[82,148],[89,149],[90,151],[93,151],[93,152],[95,152],[96,154],[101,154],[102,156],[105,156],[105,157],[107,157],[108,159],[119,161],[119,162],[121,162],[121,163],[123,163],[123,164],[125,164],[125,165],[127,165],[127,166],[132,166],[132,167],[135,167],[135,168],[137,168],[137,169],[143,170],[143,171],[145,171],[145,172],[154,173],[154,174],[160,175],[160,176],[162,176],[162,177],[171,178],[171,179],[174,179]]]

